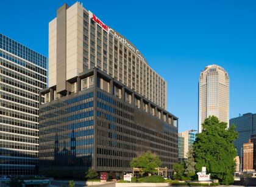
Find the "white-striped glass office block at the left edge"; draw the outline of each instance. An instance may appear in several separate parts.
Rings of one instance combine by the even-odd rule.
[[[39,90],[47,60],[0,33],[0,175],[35,174]]]

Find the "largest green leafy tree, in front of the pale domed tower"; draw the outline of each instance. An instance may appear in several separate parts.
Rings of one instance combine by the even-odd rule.
[[[218,178],[224,185],[233,183],[236,156],[233,141],[238,137],[235,126],[227,129],[227,123],[211,116],[205,119],[202,129],[193,144],[196,171],[205,166],[212,178]]]

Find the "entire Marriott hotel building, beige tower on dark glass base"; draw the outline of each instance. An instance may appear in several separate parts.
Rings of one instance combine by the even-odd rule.
[[[145,151],[172,170],[178,118],[166,81],[124,36],[78,2],[49,22],[49,87],[40,95],[40,165],[131,171]]]

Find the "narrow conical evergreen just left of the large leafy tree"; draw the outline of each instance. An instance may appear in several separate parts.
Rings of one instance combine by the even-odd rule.
[[[185,174],[188,177],[192,177],[196,175],[196,169],[194,166],[196,165],[196,162],[194,161],[194,149],[193,147],[190,147],[187,152],[187,159],[185,160]]]

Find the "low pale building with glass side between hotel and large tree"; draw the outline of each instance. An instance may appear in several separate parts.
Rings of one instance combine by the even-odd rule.
[[[179,158],[187,158],[188,149],[193,145],[195,140],[195,130],[179,132]]]

